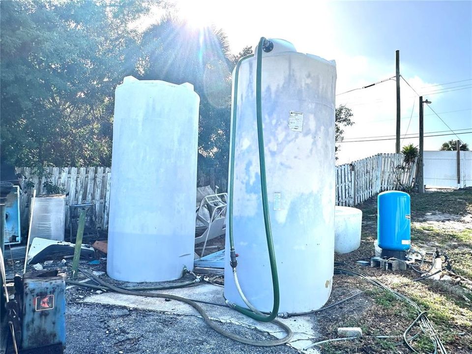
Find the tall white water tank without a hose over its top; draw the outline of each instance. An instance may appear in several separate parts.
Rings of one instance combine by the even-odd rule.
[[[191,84],[126,77],[115,92],[107,272],[180,278],[193,269],[200,97]]]

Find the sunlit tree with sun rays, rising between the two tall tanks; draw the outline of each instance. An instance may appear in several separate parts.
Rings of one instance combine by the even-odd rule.
[[[234,67],[226,34],[166,16],[143,33],[140,45],[142,79],[194,86],[200,96],[199,152],[226,168]]]

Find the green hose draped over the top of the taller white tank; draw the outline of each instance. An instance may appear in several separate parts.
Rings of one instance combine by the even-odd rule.
[[[235,310],[241,312],[242,314],[251,317],[254,320],[261,322],[271,322],[277,317],[280,304],[280,292],[279,292],[279,279],[277,274],[277,263],[275,260],[274,244],[272,240],[272,230],[270,228],[270,216],[269,216],[269,207],[267,202],[267,181],[266,181],[266,158],[264,153],[264,131],[262,123],[262,54],[263,48],[268,43],[266,38],[262,37],[259,41],[257,47],[257,61],[256,61],[256,117],[257,117],[257,138],[258,138],[258,147],[259,147],[259,166],[260,166],[260,176],[261,176],[261,194],[262,194],[262,207],[264,211],[264,225],[266,229],[266,239],[267,239],[267,250],[269,253],[269,262],[270,262],[270,272],[272,276],[272,289],[273,289],[273,308],[268,316],[262,314],[261,312],[251,311],[242,306],[229,303],[229,305]],[[252,56],[247,56],[240,59],[236,65],[235,71],[235,89],[234,89],[234,100],[233,100],[233,122],[232,122],[232,136],[231,136],[231,177],[229,185],[229,238],[230,238],[230,258],[231,258],[231,267],[233,268],[233,273],[235,274],[236,279],[236,250],[235,242],[233,235],[233,188],[234,188],[234,176],[235,176],[235,140],[236,140],[236,110],[237,110],[237,84],[239,76],[239,66],[241,62],[245,59],[248,59]],[[245,298],[243,295],[241,296]],[[247,302],[246,302],[247,304]],[[249,306],[251,308],[251,306]]]

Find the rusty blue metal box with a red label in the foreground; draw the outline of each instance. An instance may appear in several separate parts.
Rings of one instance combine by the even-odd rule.
[[[21,345],[38,353],[62,352],[65,348],[65,281],[50,272],[23,276]],[[41,349],[43,348],[43,349]]]

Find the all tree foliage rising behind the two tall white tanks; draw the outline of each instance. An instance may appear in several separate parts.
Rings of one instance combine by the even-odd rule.
[[[228,164],[232,55],[221,29],[166,15],[132,24],[160,0],[1,1],[1,158],[23,166],[109,166],[114,91],[123,77],[189,82],[200,96],[199,152]],[[336,142],[352,125],[336,109]],[[337,149],[339,147],[336,147]],[[202,160],[202,159],[200,159]]]

